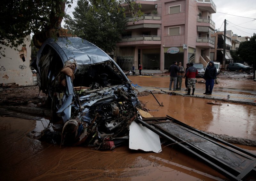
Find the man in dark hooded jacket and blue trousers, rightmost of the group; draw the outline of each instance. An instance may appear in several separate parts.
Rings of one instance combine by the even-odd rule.
[[[214,86],[214,79],[217,77],[217,69],[214,66],[214,62],[210,61],[204,72],[205,93],[206,95],[212,95],[212,89]]]

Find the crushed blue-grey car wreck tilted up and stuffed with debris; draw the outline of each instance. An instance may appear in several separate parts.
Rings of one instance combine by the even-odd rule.
[[[76,65],[74,76],[61,73],[67,62]],[[137,117],[140,102],[131,82],[108,54],[86,40],[45,40],[35,68],[40,89],[52,99],[52,122],[63,122],[62,143],[124,136]]]

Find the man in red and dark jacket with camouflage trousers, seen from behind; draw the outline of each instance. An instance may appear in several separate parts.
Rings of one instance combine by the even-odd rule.
[[[190,95],[191,87],[193,88],[192,95],[194,95],[195,89],[196,89],[196,76],[198,74],[198,71],[196,67],[193,66],[194,63],[190,63],[190,67],[188,68],[186,72],[186,76],[188,77],[188,93],[185,95]]]

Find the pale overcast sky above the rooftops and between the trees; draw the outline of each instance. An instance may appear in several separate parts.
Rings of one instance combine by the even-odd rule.
[[[212,20],[215,22],[215,29],[224,31],[224,20],[226,19],[226,30],[232,30],[232,32],[238,36],[251,37],[253,36],[253,33],[256,33],[255,0],[213,0],[213,2],[216,4],[217,11],[212,14]],[[67,13],[71,17],[73,17],[72,11],[74,11],[75,6],[76,0],[73,0],[71,9],[67,9]]]

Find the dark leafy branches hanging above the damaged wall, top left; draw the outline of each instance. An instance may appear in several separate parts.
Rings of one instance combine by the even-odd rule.
[[[0,4],[0,55],[5,56],[4,48],[15,50],[22,45],[31,33],[58,28],[65,16],[65,4],[73,0],[3,0]],[[56,23],[57,22],[57,23]],[[1,58],[1,57],[0,57]]]

